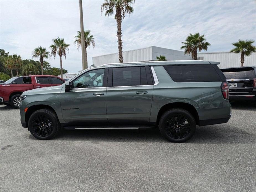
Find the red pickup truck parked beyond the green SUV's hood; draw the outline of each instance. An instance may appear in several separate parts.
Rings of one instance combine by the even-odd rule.
[[[52,75],[12,77],[3,84],[0,84],[0,104],[19,108],[22,92],[40,87],[60,85],[64,82],[60,77]]]

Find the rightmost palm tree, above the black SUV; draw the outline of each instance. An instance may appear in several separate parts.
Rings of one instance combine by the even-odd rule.
[[[250,56],[252,52],[256,52],[256,47],[252,45],[254,40],[238,40],[236,43],[232,43],[235,48],[231,49],[230,52],[232,53],[241,53],[241,67],[244,66],[244,55]]]

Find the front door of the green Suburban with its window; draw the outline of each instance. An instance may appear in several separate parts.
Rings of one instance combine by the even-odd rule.
[[[70,92],[60,96],[66,123],[97,125],[107,123],[106,83],[108,68],[92,69],[71,82]]]

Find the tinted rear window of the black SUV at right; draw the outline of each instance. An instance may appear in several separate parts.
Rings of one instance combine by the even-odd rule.
[[[245,78],[253,77],[253,69],[222,69],[223,74],[227,79],[229,78]]]

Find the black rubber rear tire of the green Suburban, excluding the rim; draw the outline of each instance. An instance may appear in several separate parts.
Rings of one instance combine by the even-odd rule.
[[[188,120],[190,121],[191,123],[191,131],[190,133],[182,138],[182,139],[174,139],[172,137],[170,137],[167,133],[166,133],[166,130],[165,130],[165,122],[166,120],[169,118],[169,116],[171,115],[175,115],[175,114],[182,114],[182,115],[185,115]],[[159,129],[160,129],[160,132],[161,134],[166,138],[168,139],[169,141],[171,142],[185,142],[187,140],[189,140],[195,133],[195,130],[196,130],[196,121],[195,121],[195,118],[186,110],[183,110],[183,109],[172,109],[172,110],[169,110],[169,111],[166,111],[161,119],[160,119],[160,123],[159,123]]]

